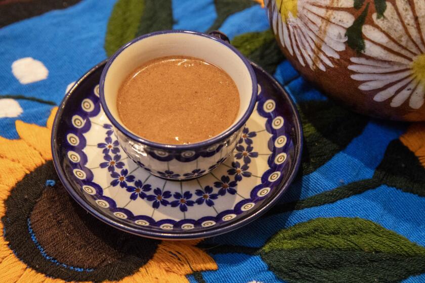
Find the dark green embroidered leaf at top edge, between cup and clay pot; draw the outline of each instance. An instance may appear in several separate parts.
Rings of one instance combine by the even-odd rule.
[[[209,30],[216,30],[230,15],[256,5],[252,0],[215,0],[217,19],[209,27]]]

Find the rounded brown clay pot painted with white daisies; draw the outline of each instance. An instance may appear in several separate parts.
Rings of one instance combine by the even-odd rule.
[[[292,65],[364,114],[425,120],[424,0],[265,0]]]

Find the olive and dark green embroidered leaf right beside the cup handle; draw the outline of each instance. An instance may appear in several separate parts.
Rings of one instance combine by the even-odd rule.
[[[236,36],[231,42],[244,56],[273,74],[284,59],[271,30],[248,32]]]

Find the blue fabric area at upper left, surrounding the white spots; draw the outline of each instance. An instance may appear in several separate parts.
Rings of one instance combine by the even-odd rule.
[[[1,28],[0,94],[20,94],[59,105],[69,83],[106,59],[103,45],[114,3],[114,0],[82,1],[66,10],[51,11]],[[78,21],[72,20],[75,18]],[[21,84],[12,74],[11,66],[25,57],[41,61],[49,70],[48,78]],[[19,103],[25,107],[18,117],[20,120],[46,125],[50,114],[45,111],[46,106],[21,100]],[[0,119],[0,135],[17,138],[15,120]]]

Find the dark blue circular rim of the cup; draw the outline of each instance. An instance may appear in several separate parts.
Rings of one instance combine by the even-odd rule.
[[[245,67],[248,69],[248,72],[249,72],[249,75],[250,75],[251,81],[252,81],[252,93],[251,93],[251,99],[250,99],[249,104],[248,104],[248,108],[246,109],[245,113],[243,113],[242,117],[232,127],[221,132],[219,135],[216,135],[214,137],[199,141],[198,143],[189,144],[189,145],[169,145],[169,144],[156,143],[155,141],[144,139],[144,138],[132,133],[131,131],[127,130],[126,128],[124,128],[117,120],[115,120],[115,118],[113,117],[113,115],[109,111],[108,106],[106,104],[106,100],[105,100],[104,86],[105,86],[106,74],[109,70],[109,67],[114,62],[114,60],[119,56],[119,54],[122,51],[124,51],[130,45],[132,45],[132,44],[134,44],[134,43],[136,43],[136,42],[138,42],[142,39],[150,37],[150,36],[167,34],[167,33],[189,33],[189,34],[207,37],[209,39],[220,42],[221,44],[223,44],[227,48],[229,48],[231,51],[233,51],[242,60],[242,62],[245,64]],[[112,125],[114,127],[116,127],[119,131],[121,131],[123,134],[125,134],[126,136],[128,136],[128,137],[130,137],[134,140],[137,140],[141,144],[144,144],[144,145],[147,145],[147,146],[150,146],[150,147],[153,147],[153,148],[157,148],[157,149],[163,149],[163,150],[193,150],[193,149],[197,149],[197,148],[200,148],[200,147],[208,147],[208,146],[214,145],[214,144],[218,143],[220,140],[229,137],[234,132],[236,132],[238,129],[240,129],[245,124],[245,122],[248,120],[248,118],[251,116],[251,113],[254,110],[254,107],[255,107],[256,102],[257,102],[257,92],[258,92],[257,77],[254,73],[254,70],[252,69],[252,66],[249,63],[249,61],[234,46],[232,46],[231,44],[229,44],[229,43],[227,43],[227,42],[225,42],[221,39],[218,39],[214,36],[205,34],[203,32],[189,31],[189,30],[155,31],[155,32],[151,32],[151,33],[141,35],[141,36],[136,37],[135,39],[129,41],[128,43],[125,43],[108,59],[108,62],[106,63],[105,68],[102,71],[102,74],[101,74],[101,77],[100,77],[100,83],[99,83],[100,104],[101,104],[103,111],[105,112],[106,116],[111,121]]]

